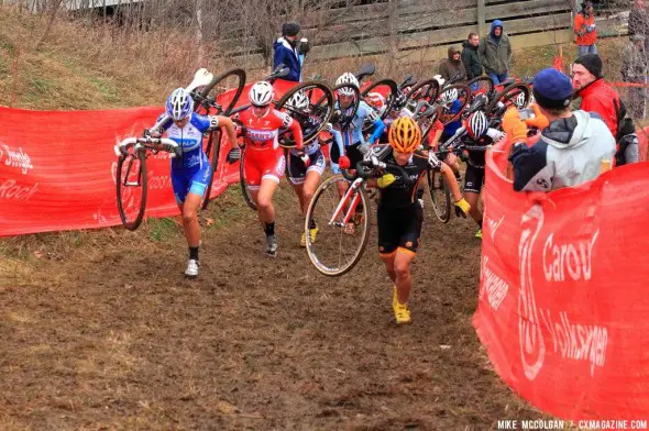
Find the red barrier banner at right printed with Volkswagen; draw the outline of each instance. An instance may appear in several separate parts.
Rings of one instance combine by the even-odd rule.
[[[649,163],[549,194],[506,163],[488,152],[473,320],[496,373],[562,419],[649,419]]]

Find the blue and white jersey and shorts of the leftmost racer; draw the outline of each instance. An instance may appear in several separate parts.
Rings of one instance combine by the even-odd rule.
[[[202,134],[218,126],[217,118],[195,112],[190,115],[184,128],[178,128],[172,120],[162,125],[167,137],[177,142],[182,148],[180,155],[172,158],[172,186],[177,203],[185,202],[187,194],[202,197],[212,178],[212,167],[202,151]]]

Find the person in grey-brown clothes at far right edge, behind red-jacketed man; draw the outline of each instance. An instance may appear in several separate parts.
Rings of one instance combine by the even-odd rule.
[[[622,78],[625,82],[647,85],[647,53],[645,52],[645,36],[636,34],[624,49],[622,63]],[[629,110],[635,119],[645,118],[646,88],[629,88]]]

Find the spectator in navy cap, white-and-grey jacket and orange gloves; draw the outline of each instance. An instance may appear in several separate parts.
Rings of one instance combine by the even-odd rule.
[[[532,91],[537,112],[549,123],[537,143],[526,144],[527,125],[516,108],[503,119],[505,133],[514,143],[509,155],[514,190],[550,191],[596,178],[615,156],[615,139],[606,124],[596,113],[570,111],[572,84],[554,68],[537,74]]]

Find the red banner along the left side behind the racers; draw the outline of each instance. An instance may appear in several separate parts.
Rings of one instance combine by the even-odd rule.
[[[278,97],[294,84],[276,81]],[[238,106],[248,103],[249,87]],[[231,92],[220,100],[229,97]],[[0,128],[0,236],[121,224],[113,146],[140,136],[162,112],[162,107],[67,112],[0,108],[6,124]],[[212,198],[239,180],[239,164],[224,163],[229,150],[229,144],[221,148]],[[178,214],[168,154],[148,157],[146,166],[146,216]]]

